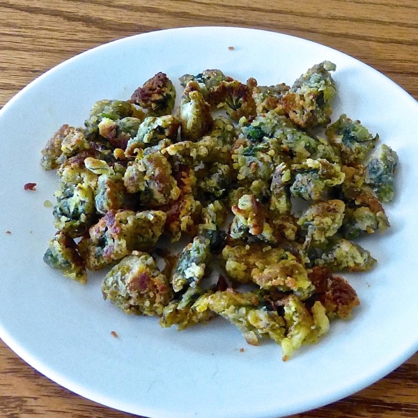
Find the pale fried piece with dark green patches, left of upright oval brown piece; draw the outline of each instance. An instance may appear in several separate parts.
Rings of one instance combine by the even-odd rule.
[[[176,116],[146,117],[139,125],[137,134],[127,142],[125,154],[132,156],[142,148],[157,145],[163,139],[175,141],[178,127],[179,121]]]

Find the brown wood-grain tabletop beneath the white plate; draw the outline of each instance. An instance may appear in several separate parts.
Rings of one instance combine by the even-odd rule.
[[[416,0],[0,0],[0,107],[42,72],[103,42],[208,25],[320,42],[368,63],[418,98]],[[59,387],[0,341],[0,417],[36,416],[133,415]],[[362,392],[298,417],[418,417],[418,355]]]

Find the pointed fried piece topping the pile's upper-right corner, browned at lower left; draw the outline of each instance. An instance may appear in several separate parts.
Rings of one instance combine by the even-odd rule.
[[[330,61],[314,65],[284,94],[280,102],[293,123],[305,129],[330,123],[330,102],[336,94],[330,71],[335,68]]]

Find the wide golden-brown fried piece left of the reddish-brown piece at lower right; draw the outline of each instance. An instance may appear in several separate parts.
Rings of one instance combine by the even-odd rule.
[[[314,293],[307,270],[289,251],[260,244],[226,245],[222,251],[225,270],[240,283],[251,281],[263,289],[293,291],[302,300]]]

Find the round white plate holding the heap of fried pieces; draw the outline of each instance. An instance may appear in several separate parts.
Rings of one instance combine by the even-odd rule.
[[[248,346],[222,319],[180,333],[161,329],[156,318],[126,316],[104,302],[102,274],[80,286],[42,262],[54,234],[43,203],[54,201],[57,180],[40,169],[40,150],[61,124],[82,125],[95,100],[127,99],[158,71],[176,80],[219,68],[241,80],[291,84],[324,60],[337,65],[334,118],[343,111],[359,118],[396,150],[401,167],[396,199],[386,206],[392,228],[362,241],[378,267],[346,276],[362,305],[351,320],[333,321],[316,346],[284,363],[279,346]],[[157,31],[66,61],[0,112],[1,338],[63,387],[153,418],[277,418],[353,394],[418,348],[417,120],[417,102],[376,70],[279,33]],[[36,192],[24,191],[28,182],[38,183]]]

